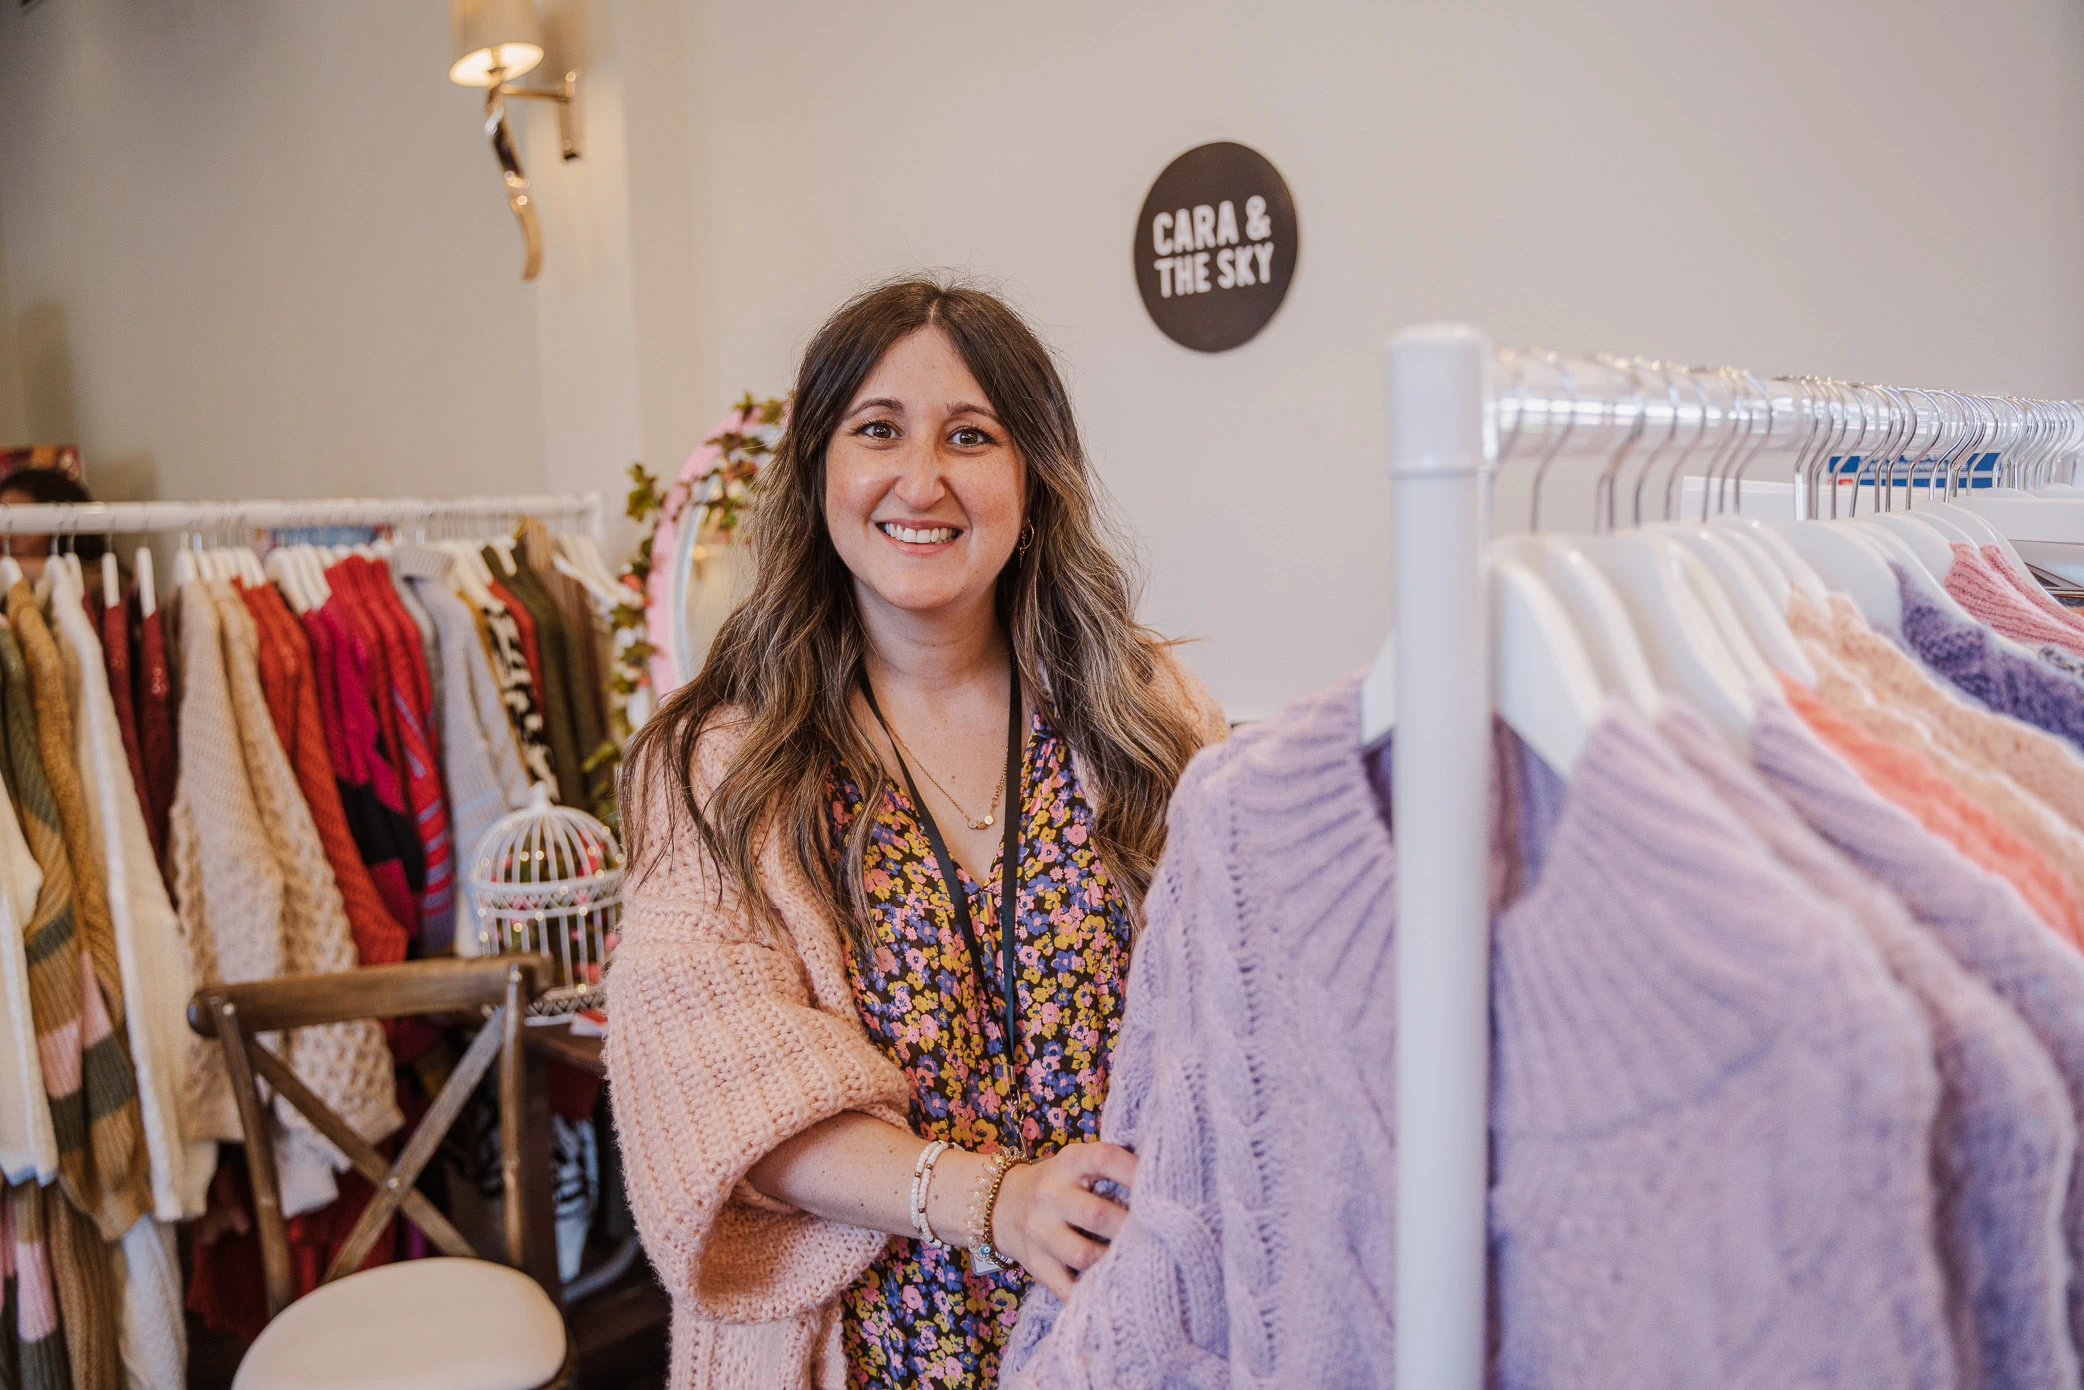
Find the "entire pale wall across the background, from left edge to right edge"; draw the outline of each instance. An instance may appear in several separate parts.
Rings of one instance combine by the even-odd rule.
[[[1388,621],[1398,325],[2084,392],[2069,0],[546,0],[588,158],[527,113],[538,286],[444,8],[0,6],[0,429],[121,494],[613,494],[854,288],[967,269],[1063,350],[1148,619],[1263,715]],[[1302,235],[1221,356],[1130,275],[1209,140],[1284,171]]]

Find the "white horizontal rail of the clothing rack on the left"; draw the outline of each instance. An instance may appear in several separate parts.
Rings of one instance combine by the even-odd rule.
[[[596,544],[598,492],[521,492],[450,498],[246,498],[221,502],[31,502],[0,506],[0,536],[138,536],[208,529],[275,531],[319,525],[394,529],[494,517],[561,517]]]

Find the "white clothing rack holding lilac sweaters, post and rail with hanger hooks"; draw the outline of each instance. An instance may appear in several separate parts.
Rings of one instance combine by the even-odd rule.
[[[1511,386],[1496,390],[1494,371],[1509,373]],[[1621,461],[1657,456],[1636,448],[1644,436],[1669,442],[1680,433],[1711,442],[1696,456],[1698,475],[1682,477],[1673,463],[1657,488],[1651,463],[1640,463],[1634,523],[1648,519],[1644,498],[1655,511],[1659,494],[1671,519],[1682,481],[1698,483],[1703,515],[1740,511],[1744,471],[1759,465],[1759,481],[1773,473],[1761,458],[1792,461],[1792,477],[1771,479],[1790,519],[1840,515],[1844,481],[1855,511],[1865,483],[1874,506],[1894,511],[1901,490],[1915,515],[1921,477],[1928,500],[1955,498],[1963,477],[1984,469],[1994,486],[1976,511],[1988,513],[2034,506],[2024,488],[2080,477],[2084,404],[1498,354],[1465,325],[1398,333],[1386,386],[1396,508],[1392,796],[1398,811],[1413,809],[1396,817],[1396,1384],[1482,1390],[1492,786],[1484,548],[1500,436],[1521,456],[1530,440],[1542,440],[1532,450],[1540,471],[1565,446],[1603,456],[1594,508],[1605,527],[1628,525],[1619,519],[1619,498],[1630,494]],[[1534,515],[1538,525],[1540,473]]]

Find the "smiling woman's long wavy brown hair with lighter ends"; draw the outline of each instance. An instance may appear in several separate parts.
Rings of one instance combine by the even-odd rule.
[[[925,277],[848,300],[804,350],[790,421],[744,531],[752,592],[723,621],[696,677],[659,706],[629,748],[629,861],[644,873],[665,852],[648,844],[644,798],[667,786],[659,769],[673,769],[677,815],[740,886],[750,925],[782,927],[759,875],[761,838],[773,829],[846,936],[861,940],[871,817],[857,819],[836,871],[827,773],[834,761],[850,769],[871,806],[890,779],[850,711],[867,636],[854,577],[825,529],[825,448],[884,352],[929,325],[954,344],[1027,465],[1034,536],[998,575],[998,617],[1021,679],[1046,692],[1052,725],[1082,759],[1100,857],[1140,919],[1165,848],[1165,802],[1200,744],[1192,713],[1157,679],[1165,642],[1136,621],[1130,573],[1100,517],[1071,398],[1042,340],[994,294]],[[740,723],[742,740],[709,802],[698,804],[696,742],[719,721]]]

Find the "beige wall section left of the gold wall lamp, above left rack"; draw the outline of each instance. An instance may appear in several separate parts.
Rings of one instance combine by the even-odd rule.
[[[0,8],[17,429],[106,496],[544,486],[536,300],[446,6]]]

